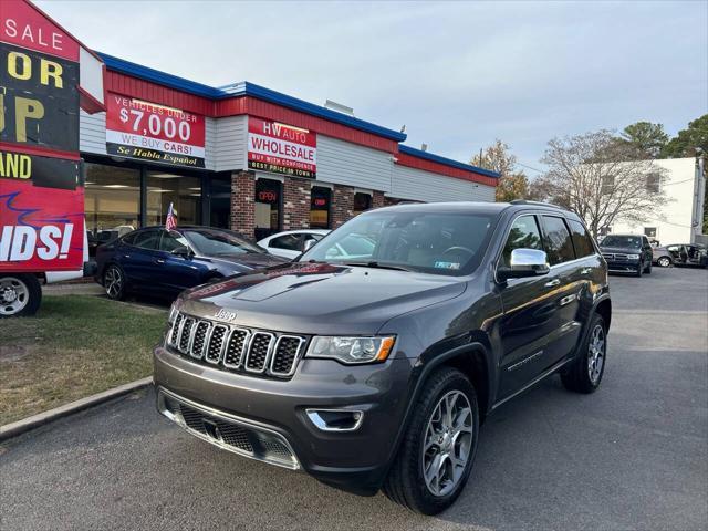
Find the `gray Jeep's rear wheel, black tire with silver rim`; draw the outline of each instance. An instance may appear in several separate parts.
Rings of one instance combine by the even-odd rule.
[[[602,344],[596,342],[597,335]],[[605,374],[606,361],[607,329],[602,316],[596,313],[590,321],[590,332],[583,340],[577,357],[566,372],[561,373],[563,386],[575,393],[594,393]]]

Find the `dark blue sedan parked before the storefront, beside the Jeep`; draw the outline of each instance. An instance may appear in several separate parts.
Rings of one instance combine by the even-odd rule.
[[[98,247],[95,280],[111,299],[128,292],[175,298],[186,288],[284,262],[230,230],[147,227]]]

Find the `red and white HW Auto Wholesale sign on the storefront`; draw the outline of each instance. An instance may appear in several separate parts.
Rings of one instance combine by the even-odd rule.
[[[271,174],[315,178],[317,136],[308,129],[249,116],[248,167]]]

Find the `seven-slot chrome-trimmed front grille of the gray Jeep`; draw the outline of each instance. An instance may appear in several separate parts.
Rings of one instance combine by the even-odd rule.
[[[229,326],[178,313],[167,344],[192,360],[240,373],[288,378],[303,355],[305,337]]]

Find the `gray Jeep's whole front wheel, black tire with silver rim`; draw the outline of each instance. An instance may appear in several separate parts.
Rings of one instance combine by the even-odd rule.
[[[413,511],[437,514],[455,502],[467,483],[477,454],[479,409],[475,387],[455,368],[440,368],[424,385],[383,490],[391,500]],[[452,403],[452,415],[462,421],[462,429],[454,429],[451,435],[442,431],[442,410],[448,400]],[[465,408],[469,409],[467,414]],[[431,446],[424,452],[426,440]],[[450,455],[458,459],[466,456],[464,465],[454,464]],[[429,475],[427,481],[425,467],[433,470],[436,462],[442,462],[442,467],[436,467],[438,473]]]

